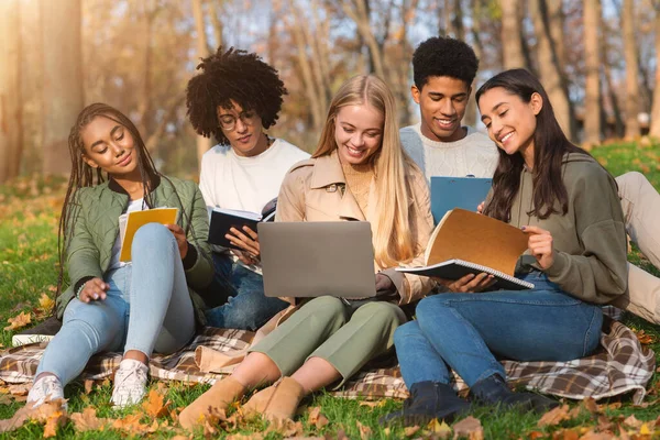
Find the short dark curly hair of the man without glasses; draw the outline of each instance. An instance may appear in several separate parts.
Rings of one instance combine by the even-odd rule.
[[[433,36],[417,46],[413,54],[413,78],[419,90],[432,76],[448,76],[472,85],[479,59],[472,47],[460,40]]]

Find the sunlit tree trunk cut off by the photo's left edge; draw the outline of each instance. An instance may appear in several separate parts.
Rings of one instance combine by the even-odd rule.
[[[20,2],[0,1],[0,184],[19,175],[23,148]]]

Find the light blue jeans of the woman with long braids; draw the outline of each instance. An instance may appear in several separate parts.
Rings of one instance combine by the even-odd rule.
[[[138,230],[132,264],[108,272],[105,300],[74,298],[48,343],[36,375],[55,374],[63,385],[98,352],[138,350],[151,356],[183,348],[195,334],[195,311],[176,240],[158,223]]]

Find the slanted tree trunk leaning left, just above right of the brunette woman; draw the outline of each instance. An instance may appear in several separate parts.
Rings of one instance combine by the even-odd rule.
[[[574,120],[571,118],[571,101],[553,50],[546,0],[531,0],[529,9],[537,36],[540,80],[550,97],[554,114],[563,132],[569,139],[575,139]]]

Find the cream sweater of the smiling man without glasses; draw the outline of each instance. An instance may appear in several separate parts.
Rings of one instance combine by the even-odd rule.
[[[402,145],[421,168],[428,182],[431,176],[493,177],[497,167],[497,147],[483,133],[466,127],[468,135],[455,142],[437,142],[421,134],[421,124],[399,131]]]

